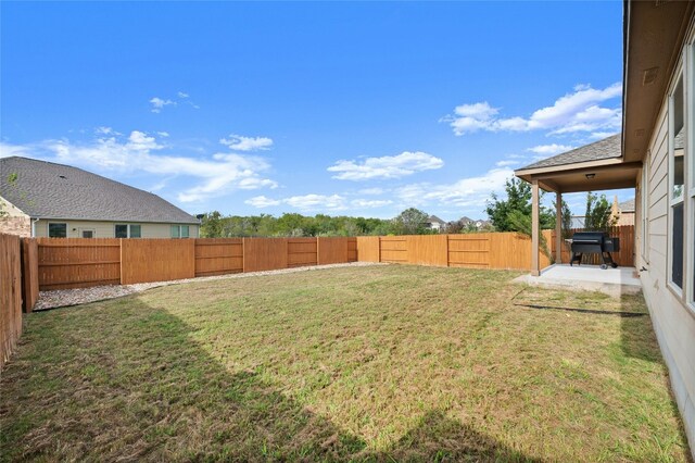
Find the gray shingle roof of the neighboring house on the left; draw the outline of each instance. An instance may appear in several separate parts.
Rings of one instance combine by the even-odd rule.
[[[16,174],[16,182],[10,176]],[[0,159],[0,196],[31,217],[195,224],[156,195],[81,168],[26,158]]]

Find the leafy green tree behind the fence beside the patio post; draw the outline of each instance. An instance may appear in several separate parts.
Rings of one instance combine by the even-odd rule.
[[[496,193],[491,195],[491,201],[488,201],[485,212],[490,222],[497,232],[521,232],[518,229],[518,216],[526,215],[531,222],[532,213],[532,191],[531,185],[520,178],[510,178],[505,184],[505,191],[507,193],[506,200],[497,198]],[[543,192],[541,192],[541,198]],[[515,214],[516,221],[510,221],[510,214]],[[540,207],[540,223],[542,229],[555,227],[555,213],[552,210],[541,205]]]

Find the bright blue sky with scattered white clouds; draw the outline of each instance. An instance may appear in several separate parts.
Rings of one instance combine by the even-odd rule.
[[[620,130],[618,1],[0,9],[0,155],[191,213],[484,217],[514,168]]]

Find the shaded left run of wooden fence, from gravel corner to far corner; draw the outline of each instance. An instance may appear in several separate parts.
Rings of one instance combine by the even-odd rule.
[[[357,261],[355,238],[35,238],[41,290]]]

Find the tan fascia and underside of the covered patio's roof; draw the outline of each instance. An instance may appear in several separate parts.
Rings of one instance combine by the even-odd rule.
[[[526,182],[538,180],[546,191],[579,192],[634,188],[642,161],[624,162],[620,158],[552,167],[516,171]]]

